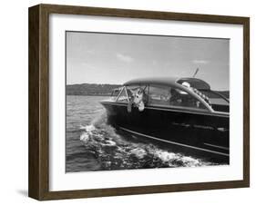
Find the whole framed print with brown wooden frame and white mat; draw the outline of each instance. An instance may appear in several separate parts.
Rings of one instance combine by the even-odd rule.
[[[250,20],[29,8],[29,196],[249,187]]]

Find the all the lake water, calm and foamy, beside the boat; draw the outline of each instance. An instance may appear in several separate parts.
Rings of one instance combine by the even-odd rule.
[[[104,96],[67,96],[66,171],[109,171],[214,165],[155,142],[118,133],[107,123]]]

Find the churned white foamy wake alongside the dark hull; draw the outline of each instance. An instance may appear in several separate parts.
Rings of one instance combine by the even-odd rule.
[[[106,113],[81,126],[80,131],[80,141],[87,151],[94,153],[100,171],[213,165],[212,162],[161,149],[153,143],[143,143],[134,137],[128,139],[108,125]]]

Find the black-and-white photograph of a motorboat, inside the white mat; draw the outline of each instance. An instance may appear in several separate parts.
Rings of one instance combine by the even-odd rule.
[[[228,166],[229,99],[228,38],[66,31],[66,172]]]

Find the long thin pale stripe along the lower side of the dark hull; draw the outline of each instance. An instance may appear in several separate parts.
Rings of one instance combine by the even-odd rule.
[[[167,141],[167,140],[162,140],[162,139],[159,139],[159,138],[156,138],[156,137],[149,136],[147,134],[142,134],[142,133],[139,133],[139,132],[130,131],[130,130],[128,130],[126,128],[123,128],[123,127],[119,127],[119,128],[121,130],[131,132],[131,133],[134,133],[134,134],[138,134],[138,135],[141,135],[143,137],[147,137],[147,138],[150,138],[150,139],[153,139],[153,140],[156,140],[156,141],[167,142],[167,143],[170,143],[170,144],[176,144],[176,145],[179,145],[179,146],[182,146],[182,147],[188,147],[188,148],[191,148],[191,149],[194,149],[194,150],[199,150],[199,151],[207,151],[207,152],[220,154],[220,155],[227,156],[227,157],[230,156],[230,154],[222,153],[220,151],[210,151],[210,150],[207,150],[207,149],[203,149],[203,148],[200,148],[200,147],[194,147],[194,146],[187,145],[187,144],[182,144],[182,143],[179,143],[179,142],[171,142],[171,141]]]

